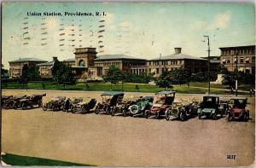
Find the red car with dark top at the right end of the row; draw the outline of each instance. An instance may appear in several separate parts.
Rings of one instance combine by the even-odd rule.
[[[249,110],[247,107],[247,98],[232,98],[229,101],[230,109],[228,110],[228,121],[235,119],[243,119],[247,121],[249,119]]]

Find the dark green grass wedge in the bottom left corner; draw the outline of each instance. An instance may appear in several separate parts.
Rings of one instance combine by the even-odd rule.
[[[60,165],[60,166],[95,166],[95,165],[83,165],[83,164],[76,164],[67,161],[60,161],[54,159],[42,159],[42,158],[35,158],[35,157],[28,157],[28,156],[20,156],[16,154],[5,154],[1,156],[1,159],[7,165]]]

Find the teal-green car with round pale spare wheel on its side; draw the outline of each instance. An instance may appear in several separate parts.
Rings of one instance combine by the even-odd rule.
[[[143,115],[146,110],[149,110],[153,105],[154,96],[142,96],[137,99],[134,105],[129,107],[131,116]]]

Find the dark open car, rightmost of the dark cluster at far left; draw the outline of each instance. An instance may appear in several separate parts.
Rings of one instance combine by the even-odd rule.
[[[17,108],[21,107],[23,110],[25,110],[27,107],[42,107],[43,106],[43,96],[46,96],[46,94],[42,95],[32,95],[32,96],[26,96],[23,99],[20,99],[20,103],[17,105]]]

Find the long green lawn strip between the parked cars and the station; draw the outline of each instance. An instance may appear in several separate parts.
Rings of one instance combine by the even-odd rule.
[[[136,86],[137,85],[137,86]],[[200,87],[200,88],[195,88]],[[207,83],[190,83],[190,87],[188,84],[174,85],[173,90],[176,90],[177,93],[188,93],[188,94],[204,94],[207,92]],[[243,86],[244,88],[240,88],[242,90],[248,90],[247,86]],[[211,84],[212,89],[227,89],[227,86],[223,86],[221,84]],[[17,83],[9,83],[2,84],[2,89],[26,89],[26,85],[17,84]],[[63,84],[53,84],[52,82],[44,82],[43,84],[39,82],[28,83],[27,89],[36,89],[36,90],[64,90]],[[138,89],[138,90],[137,90]],[[111,84],[109,83],[77,83],[75,85],[66,85],[65,90],[111,90]],[[122,90],[122,84],[112,84],[112,90]],[[124,91],[140,91],[140,92],[157,92],[163,90],[155,85],[150,84],[133,84],[133,83],[125,83]],[[211,90],[212,94],[229,94],[227,90]],[[243,93],[244,94],[244,93]]]

